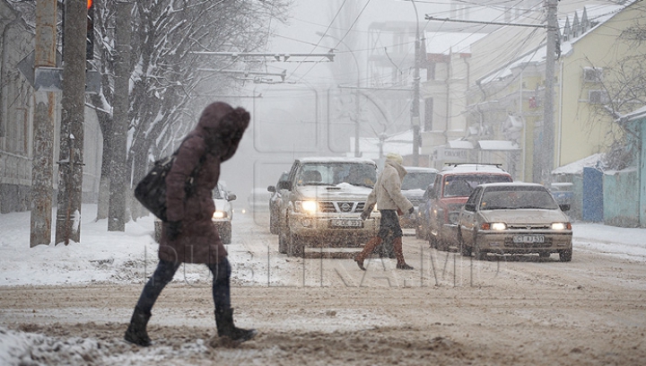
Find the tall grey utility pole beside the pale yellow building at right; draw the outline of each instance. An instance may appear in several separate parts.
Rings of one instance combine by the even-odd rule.
[[[545,153],[540,154],[542,157],[540,180],[543,184],[549,184],[552,181],[551,172],[554,170],[554,64],[556,63],[556,38],[558,37],[557,2],[558,0],[546,0],[546,90],[543,112],[543,145]]]

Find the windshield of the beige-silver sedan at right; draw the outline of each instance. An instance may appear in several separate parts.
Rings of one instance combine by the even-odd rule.
[[[558,205],[544,187],[487,187],[480,202],[481,210],[520,208],[555,210]]]

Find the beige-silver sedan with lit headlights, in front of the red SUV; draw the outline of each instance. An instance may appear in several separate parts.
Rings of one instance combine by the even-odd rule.
[[[558,253],[572,260],[572,225],[546,187],[532,183],[493,183],[476,187],[459,213],[463,256],[487,253]]]

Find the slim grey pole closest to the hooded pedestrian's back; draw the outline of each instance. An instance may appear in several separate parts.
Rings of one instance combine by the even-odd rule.
[[[132,3],[117,4],[115,30],[115,94],[112,127],[110,128],[110,184],[108,231],[126,231],[126,158],[127,158],[127,111],[129,109],[130,39]]]

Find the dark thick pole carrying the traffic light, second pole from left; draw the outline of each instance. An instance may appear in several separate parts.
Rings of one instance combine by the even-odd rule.
[[[87,0],[65,1],[56,244],[81,240]]]

